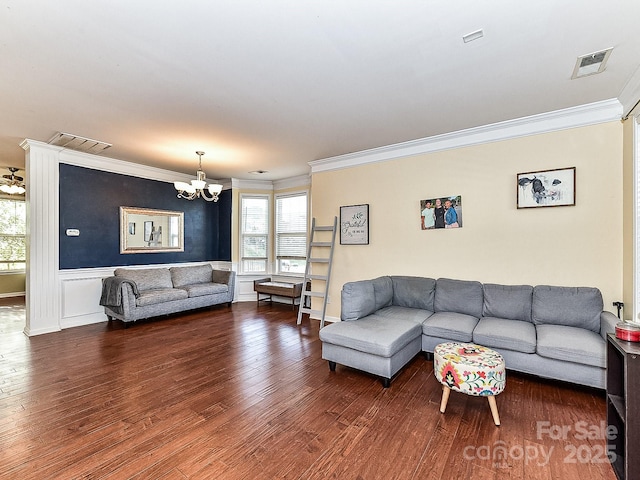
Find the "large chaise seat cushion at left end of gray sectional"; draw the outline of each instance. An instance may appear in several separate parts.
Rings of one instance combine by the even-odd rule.
[[[422,327],[411,320],[373,314],[352,322],[335,322],[320,329],[320,340],[389,358],[412,340],[419,338]]]

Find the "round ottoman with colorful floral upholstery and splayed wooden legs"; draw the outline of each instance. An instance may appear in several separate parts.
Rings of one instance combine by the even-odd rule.
[[[506,383],[504,359],[498,352],[473,343],[447,342],[433,351],[435,377],[443,385],[440,412],[444,413],[451,390],[487,397],[496,425],[500,425],[495,396]]]

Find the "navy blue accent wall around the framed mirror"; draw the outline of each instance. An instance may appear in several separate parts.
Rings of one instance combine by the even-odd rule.
[[[60,164],[60,268],[231,261],[231,198],[188,201],[171,183]],[[184,252],[121,254],[121,206],[184,212]]]

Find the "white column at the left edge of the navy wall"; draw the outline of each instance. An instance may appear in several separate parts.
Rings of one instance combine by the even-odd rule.
[[[24,140],[27,206],[28,336],[60,330],[59,156],[60,147]]]

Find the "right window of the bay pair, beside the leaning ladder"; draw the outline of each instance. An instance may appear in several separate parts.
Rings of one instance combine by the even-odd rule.
[[[307,258],[307,192],[276,195],[276,273],[304,274]]]

